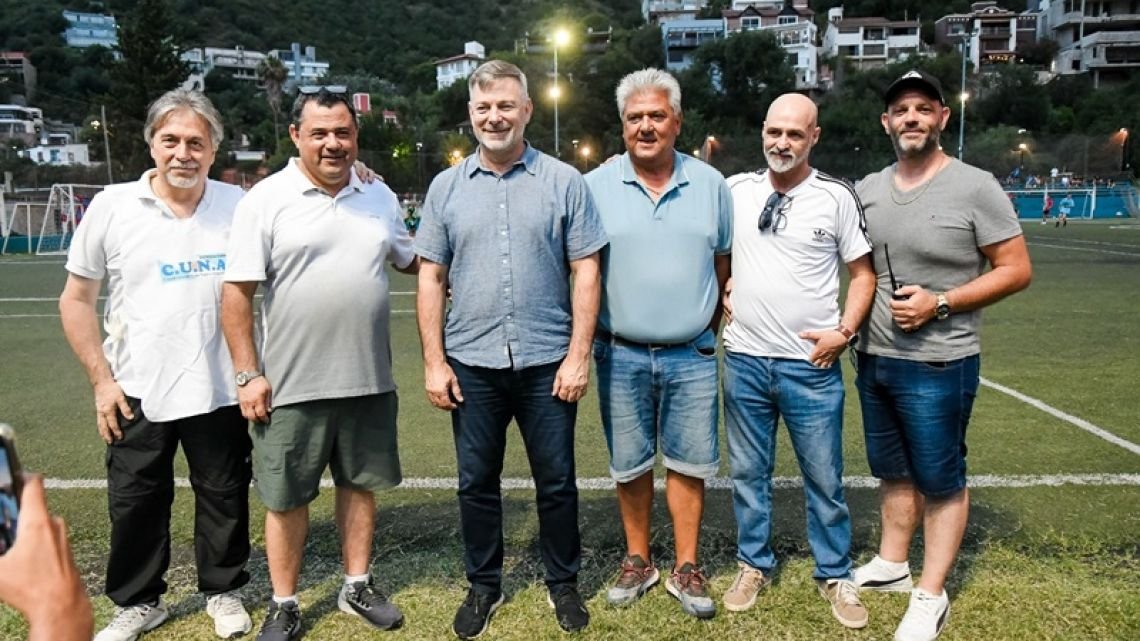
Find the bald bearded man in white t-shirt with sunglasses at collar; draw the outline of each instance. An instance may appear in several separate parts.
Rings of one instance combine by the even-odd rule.
[[[870,309],[874,270],[854,190],[808,164],[820,139],[816,113],[799,94],[776,98],[763,129],[767,171],[728,179],[735,234],[724,406],[740,571],[724,603],[732,611],[751,608],[775,569],[772,471],[782,416],[804,474],[820,594],[839,623],[863,627],[866,609],[850,581],[838,359]],[[850,274],[842,311],[840,263]]]

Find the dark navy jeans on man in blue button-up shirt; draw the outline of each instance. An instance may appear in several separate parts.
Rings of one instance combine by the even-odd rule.
[[[538,503],[538,539],[546,585],[573,585],[581,563],[575,479],[576,403],[551,396],[559,363],[526,370],[470,367],[450,359],[464,401],[451,412],[459,464],[463,561],[471,585],[498,592],[503,581],[499,480],[506,429],[514,419],[527,447]]]

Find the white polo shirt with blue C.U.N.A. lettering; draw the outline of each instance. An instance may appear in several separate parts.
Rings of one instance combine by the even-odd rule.
[[[194,216],[178,218],[150,188],[112,185],[91,200],[67,271],[107,281],[103,343],[123,392],[152,421],[237,403],[219,320],[226,245],[239,187],[209,180]]]

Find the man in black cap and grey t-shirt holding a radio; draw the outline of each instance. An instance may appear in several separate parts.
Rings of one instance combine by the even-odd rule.
[[[856,388],[882,535],[854,578],[864,590],[910,592],[895,640],[929,641],[950,615],[944,585],[969,513],[966,428],[979,382],[980,310],[1028,286],[1032,268],[994,177],[939,146],[950,107],[938,79],[910,71],[883,98],[882,128],[898,162],[856,186],[878,275]],[[919,525],[922,576],[913,585],[907,551]]]

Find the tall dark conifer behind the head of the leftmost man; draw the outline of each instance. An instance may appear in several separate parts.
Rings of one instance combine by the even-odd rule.
[[[135,10],[119,17],[119,51],[122,59],[111,68],[111,149],[120,177],[140,173],[148,164],[139,133],[147,107],[158,96],[178,88],[188,75],[179,58],[174,24],[163,0],[139,0]]]

